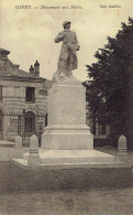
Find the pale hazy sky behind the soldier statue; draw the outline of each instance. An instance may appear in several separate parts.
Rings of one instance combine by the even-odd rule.
[[[133,0],[0,0],[0,47],[10,51],[9,58],[26,72],[37,60],[41,76],[51,79],[62,46],[54,39],[63,22],[70,21],[80,45],[73,74],[82,82],[88,79],[86,65],[97,61],[97,50],[107,44],[107,36],[115,36],[129,17],[133,18]]]

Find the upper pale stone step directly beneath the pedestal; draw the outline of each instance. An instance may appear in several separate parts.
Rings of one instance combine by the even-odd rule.
[[[97,150],[43,150],[38,151],[42,164],[115,162],[117,158]],[[23,154],[25,160],[29,153]]]

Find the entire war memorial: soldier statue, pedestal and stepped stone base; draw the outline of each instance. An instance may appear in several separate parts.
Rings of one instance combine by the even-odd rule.
[[[115,162],[115,157],[93,149],[93,135],[86,125],[86,88],[71,74],[77,68],[79,45],[76,33],[69,30],[70,22],[64,22],[63,25],[64,31],[55,39],[56,43],[63,41],[63,46],[58,68],[53,77],[55,79],[48,89],[48,117],[42,135],[42,148],[38,151],[38,140],[36,136],[32,136],[26,163],[53,170],[121,166],[119,161]],[[126,159],[125,144],[120,153]],[[20,144],[15,154],[22,155]],[[14,160],[15,163],[21,161],[22,159]],[[22,165],[25,166],[25,161]]]

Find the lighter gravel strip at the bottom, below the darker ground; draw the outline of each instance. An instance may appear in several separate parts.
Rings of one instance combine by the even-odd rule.
[[[1,215],[133,215],[133,189],[45,191],[0,196]]]

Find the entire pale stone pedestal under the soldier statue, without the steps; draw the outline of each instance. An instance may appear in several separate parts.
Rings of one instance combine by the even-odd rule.
[[[49,150],[93,149],[86,125],[86,88],[75,78],[55,82],[48,94],[48,123],[42,148]]]

